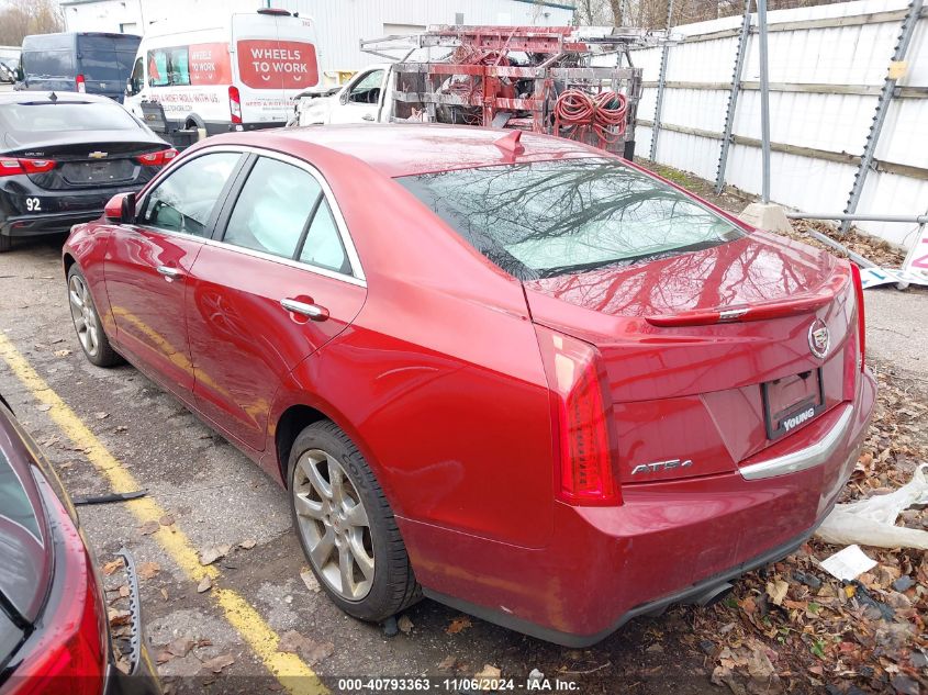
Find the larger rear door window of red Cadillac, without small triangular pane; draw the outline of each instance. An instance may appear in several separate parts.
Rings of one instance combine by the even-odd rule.
[[[260,157],[235,202],[223,240],[292,258],[321,193],[309,172]]]

